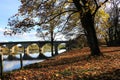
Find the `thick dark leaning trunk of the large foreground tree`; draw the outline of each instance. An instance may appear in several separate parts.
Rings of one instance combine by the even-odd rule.
[[[86,0],[81,1],[84,5],[87,3]],[[73,0],[73,3],[76,6],[77,10],[80,12],[81,23],[85,29],[88,45],[91,50],[91,55],[101,55],[98,46],[98,40],[96,37],[96,31],[94,28],[94,17],[91,14],[91,10],[89,8],[83,7],[83,5],[80,4],[80,0]]]

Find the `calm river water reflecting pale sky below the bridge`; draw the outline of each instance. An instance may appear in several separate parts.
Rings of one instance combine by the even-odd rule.
[[[65,52],[65,49],[59,50],[58,53],[62,53]],[[30,54],[30,56],[32,57],[37,57],[39,54],[38,53],[34,53],[34,54]],[[47,57],[51,57],[51,52],[46,52],[44,53],[45,56]],[[16,57],[19,57],[19,55],[16,55]],[[7,58],[7,56],[3,56],[3,58]],[[38,62],[42,62],[44,60],[23,60],[23,66],[29,65],[29,64],[33,64],[33,63],[38,63]],[[15,69],[19,69],[20,68],[20,61],[3,61],[3,72],[8,72],[8,71],[12,71]]]

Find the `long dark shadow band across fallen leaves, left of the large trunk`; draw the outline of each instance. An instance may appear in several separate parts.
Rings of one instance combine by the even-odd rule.
[[[59,65],[71,65],[72,63],[79,62],[79,61],[88,61],[88,55],[82,55],[82,56],[75,56],[70,58],[61,58],[61,59],[46,59],[47,62],[40,62],[31,64],[28,66],[25,66],[24,68],[30,69],[30,68],[48,68],[49,66],[55,67]]]

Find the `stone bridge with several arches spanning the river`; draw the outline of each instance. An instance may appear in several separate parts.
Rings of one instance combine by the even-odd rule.
[[[29,54],[29,47],[32,44],[36,44],[39,47],[39,56],[38,58],[45,58],[45,56],[41,53],[42,47],[45,44],[51,43],[51,41],[21,41],[21,42],[0,42],[0,54],[3,54],[3,47],[7,47],[9,49],[9,55],[12,56],[12,53],[14,53],[14,46],[20,44],[24,48],[24,59],[31,59],[28,54]],[[69,50],[69,41],[54,41],[53,46],[55,50],[55,55],[58,54],[58,46],[64,43],[66,46],[66,51]],[[4,55],[4,54],[3,54]]]

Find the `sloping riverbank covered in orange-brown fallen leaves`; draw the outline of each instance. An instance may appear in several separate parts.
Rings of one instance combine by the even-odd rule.
[[[101,47],[103,56],[88,58],[88,48],[62,53],[22,70],[5,73],[4,80],[120,80],[120,47]]]

